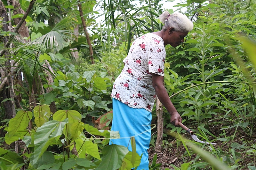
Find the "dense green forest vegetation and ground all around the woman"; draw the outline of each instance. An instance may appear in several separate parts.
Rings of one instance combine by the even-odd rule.
[[[180,46],[166,46],[165,87],[183,123],[217,145],[187,140],[157,104],[150,169],[255,170],[255,1],[187,0],[176,8],[194,29]],[[118,133],[93,128],[92,116],[111,110],[131,42],[161,30],[164,10],[173,13],[159,0],[1,0],[0,168],[138,166],[134,138],[132,152],[108,145]]]

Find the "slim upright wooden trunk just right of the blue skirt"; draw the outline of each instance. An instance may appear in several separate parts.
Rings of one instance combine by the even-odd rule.
[[[156,147],[155,152],[162,152],[163,144],[163,129],[164,129],[164,118],[163,118],[163,107],[160,107],[161,102],[156,96],[156,117],[157,117],[157,137],[156,137]]]

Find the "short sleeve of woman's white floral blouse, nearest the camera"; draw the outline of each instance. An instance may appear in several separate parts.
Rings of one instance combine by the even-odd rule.
[[[164,76],[165,57],[163,40],[155,38],[148,51],[148,72]]]

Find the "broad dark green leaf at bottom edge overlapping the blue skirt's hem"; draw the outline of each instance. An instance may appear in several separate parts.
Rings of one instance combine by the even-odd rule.
[[[102,161],[95,170],[113,170],[120,168],[128,152],[128,149],[121,145],[111,144],[104,147],[102,150]]]

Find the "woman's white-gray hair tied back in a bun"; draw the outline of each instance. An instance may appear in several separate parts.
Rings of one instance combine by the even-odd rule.
[[[163,30],[165,31],[169,27],[173,27],[175,31],[189,32],[193,29],[193,22],[182,13],[169,14],[168,11],[164,11],[159,16],[160,21],[164,24]]]

